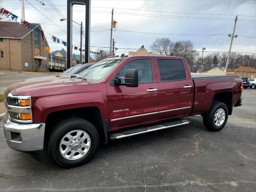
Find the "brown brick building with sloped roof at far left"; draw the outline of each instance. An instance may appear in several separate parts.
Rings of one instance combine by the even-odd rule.
[[[17,71],[48,71],[49,57],[44,48],[46,39],[40,35],[40,24],[29,29],[18,22],[0,21],[0,69]]]

